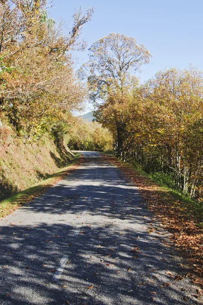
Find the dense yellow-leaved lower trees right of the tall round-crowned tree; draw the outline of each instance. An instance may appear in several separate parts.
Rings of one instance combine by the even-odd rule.
[[[123,104],[127,159],[168,174],[191,197],[202,191],[202,88],[201,71],[173,68],[158,72]]]

